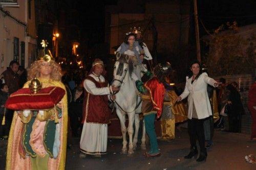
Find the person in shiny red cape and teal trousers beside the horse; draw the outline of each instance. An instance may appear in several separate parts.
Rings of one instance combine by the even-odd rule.
[[[155,131],[155,118],[160,118],[162,114],[165,78],[170,74],[171,70],[172,68],[168,62],[158,64],[154,68],[154,76],[144,84],[138,80],[135,74],[132,74],[132,79],[136,82],[137,89],[142,93],[141,111],[144,116],[146,133],[150,138],[150,151],[144,153],[146,157],[161,155]]]

